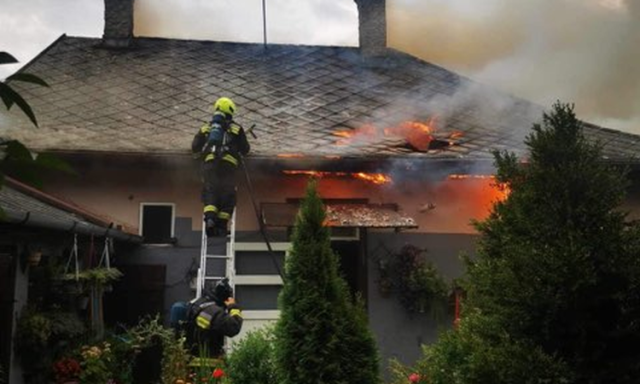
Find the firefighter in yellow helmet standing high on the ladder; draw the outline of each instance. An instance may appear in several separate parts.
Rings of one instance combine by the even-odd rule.
[[[227,97],[213,104],[211,122],[196,133],[191,150],[202,158],[202,202],[207,236],[226,236],[236,205],[236,169],[240,156],[249,153],[247,135],[233,121],[236,106]]]

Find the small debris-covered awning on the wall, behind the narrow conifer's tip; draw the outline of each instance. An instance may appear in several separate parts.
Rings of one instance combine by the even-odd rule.
[[[299,204],[263,203],[268,227],[291,227],[295,223]],[[398,211],[395,204],[326,204],[325,225],[343,228],[418,228],[416,221]]]

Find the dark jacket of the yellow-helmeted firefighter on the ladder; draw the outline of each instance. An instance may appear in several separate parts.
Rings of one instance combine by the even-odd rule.
[[[193,137],[191,151],[201,155],[203,161],[221,159],[234,166],[239,155],[249,153],[250,146],[244,129],[222,112],[216,112],[211,122],[203,125]]]

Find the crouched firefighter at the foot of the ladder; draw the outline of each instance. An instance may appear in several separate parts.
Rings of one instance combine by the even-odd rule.
[[[228,279],[205,288],[202,297],[171,308],[171,325],[184,331],[187,348],[194,356],[219,358],[224,354],[224,338],[242,329],[242,311],[233,298]]]

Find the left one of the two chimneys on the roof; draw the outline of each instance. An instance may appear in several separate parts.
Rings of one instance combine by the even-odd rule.
[[[104,36],[106,48],[128,48],[133,40],[134,0],[104,0]]]

